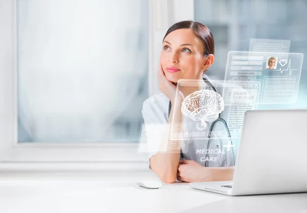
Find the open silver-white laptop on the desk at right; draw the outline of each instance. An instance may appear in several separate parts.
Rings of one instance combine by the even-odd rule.
[[[246,111],[233,181],[189,187],[230,196],[307,192],[307,110]]]

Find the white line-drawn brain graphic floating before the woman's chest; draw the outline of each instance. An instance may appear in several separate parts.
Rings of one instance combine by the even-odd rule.
[[[194,121],[214,121],[224,110],[224,100],[220,94],[212,90],[199,90],[189,94],[182,102],[181,112]]]

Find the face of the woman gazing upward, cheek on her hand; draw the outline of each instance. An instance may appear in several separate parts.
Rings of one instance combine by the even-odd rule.
[[[202,79],[206,58],[201,40],[190,29],[169,33],[162,44],[160,63],[166,78],[177,83],[179,79]]]

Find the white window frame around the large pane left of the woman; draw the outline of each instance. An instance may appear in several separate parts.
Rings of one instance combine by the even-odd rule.
[[[163,34],[171,22],[186,19],[186,12],[184,16],[173,14],[177,14],[177,10],[186,10],[186,5],[192,5],[193,9],[194,1],[178,0],[176,4],[182,5],[176,8],[173,1],[148,1],[149,67],[152,68],[148,70],[148,96],[151,96],[159,93],[155,70]],[[191,14],[193,12],[191,10]],[[164,22],[165,19],[168,21]],[[17,143],[17,0],[0,0],[0,32],[3,32],[0,34],[0,46],[3,47],[0,48],[0,117],[3,118],[0,119],[0,163],[95,162],[104,165],[98,166],[103,169],[148,169],[147,154],[138,153],[138,143]]]

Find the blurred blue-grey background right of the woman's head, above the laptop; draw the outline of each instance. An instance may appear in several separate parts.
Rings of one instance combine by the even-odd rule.
[[[307,1],[194,1],[195,21],[213,34],[215,61],[207,74],[223,80],[228,51],[249,51],[250,39],[290,40],[290,52],[307,56]],[[297,102],[258,105],[258,109],[307,109],[307,65],[302,64]]]

